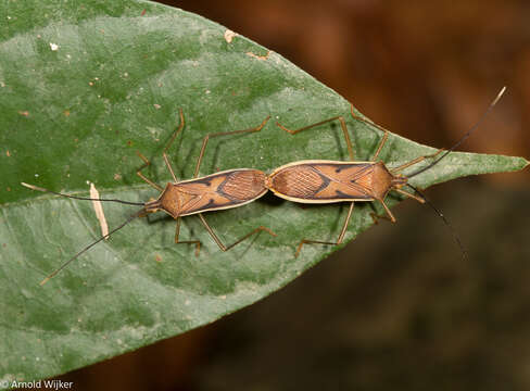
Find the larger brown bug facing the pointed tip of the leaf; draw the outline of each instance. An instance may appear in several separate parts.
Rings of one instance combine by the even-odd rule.
[[[296,130],[291,130],[286,128],[285,126],[277,123],[277,125],[285,131],[288,131],[291,135],[295,135],[300,131],[307,130],[314,128],[316,126],[332,122],[339,121],[342,133],[344,135],[344,139],[348,147],[348,152],[350,155],[350,162],[343,161],[326,161],[326,160],[307,160],[307,161],[299,161],[292,162],[281,167],[276,168],[266,179],[266,187],[272,190],[276,195],[294,202],[300,203],[310,203],[310,204],[327,204],[327,203],[335,203],[335,202],[350,202],[350,207],[348,210],[346,217],[344,219],[344,224],[342,229],[339,234],[339,238],[335,242],[329,241],[321,241],[321,240],[313,240],[313,239],[302,239],[296,248],[295,256],[299,256],[300,251],[304,244],[316,243],[316,244],[340,244],[344,239],[344,235],[348,229],[348,225],[350,223],[350,218],[353,213],[353,207],[355,202],[366,202],[366,201],[377,201],[379,202],[386,212],[386,216],[392,223],[395,223],[395,217],[390,212],[390,209],[384,203],[384,199],[389,194],[390,191],[396,191],[402,195],[407,198],[412,198],[417,200],[418,202],[426,202],[427,199],[425,195],[415,187],[408,184],[408,179],[421,174],[422,172],[429,169],[433,165],[438,164],[443,157],[445,157],[451,151],[456,149],[469,135],[472,130],[475,130],[480,122],[483,119],[485,114],[496,104],[501,96],[504,93],[505,88],[501,90],[497,97],[493,100],[493,102],[488,108],[487,112],[483,116],[479,119],[479,122],[468,131],[466,133],[458,142],[456,142],[452,148],[450,148],[445,153],[442,154],[439,159],[433,161],[428,166],[408,175],[404,176],[399,174],[403,169],[413,166],[419,162],[428,157],[436,157],[440,154],[443,150],[439,150],[437,153],[432,155],[419,156],[411,162],[402,164],[395,168],[389,168],[382,161],[378,161],[379,153],[381,152],[384,143],[387,142],[389,131],[374,123],[367,122],[354,113],[353,105],[351,106],[351,114],[354,119],[361,121],[366,123],[370,126],[375,126],[383,131],[383,136],[379,146],[374,153],[374,156],[370,161],[367,162],[355,162],[354,153],[352,148],[352,142],[350,140],[350,135],[348,131],[348,127],[345,121],[342,116],[335,116],[332,118],[328,118],[321,121],[316,124],[312,124],[305,127],[302,127]],[[420,194],[420,197],[409,193],[407,191],[402,190],[402,187],[408,186],[415,192]],[[429,203],[431,207],[440,215],[440,217],[450,226],[449,222],[445,219],[443,214],[441,214],[431,203]],[[377,222],[376,217],[373,214],[373,217]],[[463,250],[463,254],[465,256],[465,250],[462,245],[457,236],[455,236],[455,240],[457,241],[458,245]]]

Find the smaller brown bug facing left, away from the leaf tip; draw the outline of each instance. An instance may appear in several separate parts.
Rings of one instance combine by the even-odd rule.
[[[55,191],[47,190],[37,186],[27,185],[24,182],[22,184],[23,186],[28,187],[33,190],[50,192],[53,194],[73,198],[77,200],[110,201],[110,202],[119,202],[119,203],[125,203],[130,205],[142,205],[141,210],[132,214],[122,225],[111,230],[108,235],[102,236],[97,241],[90,243],[88,247],[86,247],[77,254],[75,254],[72,258],[66,261],[58,269],[55,269],[48,277],[46,277],[40,282],[40,285],[45,285],[50,278],[55,276],[59,272],[61,272],[64,267],[66,267],[72,261],[76,260],[79,255],[81,255],[84,252],[89,250],[91,247],[99,243],[101,240],[110,237],[118,229],[122,229],[124,226],[126,226],[135,218],[146,216],[149,213],[154,213],[157,211],[163,211],[177,220],[176,231],[175,231],[175,243],[195,244],[195,255],[199,255],[201,242],[199,240],[179,240],[180,217],[198,214],[201,223],[204,225],[207,232],[212,236],[212,238],[214,239],[214,241],[217,243],[217,245],[222,251],[227,251],[234,248],[235,245],[241,243],[247,238],[262,230],[268,232],[272,236],[276,236],[276,234],[274,234],[270,229],[260,226],[254,230],[252,230],[251,232],[243,236],[242,238],[238,239],[236,242],[231,243],[230,245],[225,245],[217,237],[217,235],[214,232],[212,227],[210,227],[206,219],[202,215],[204,212],[219,211],[219,210],[242,206],[264,195],[267,192],[267,188],[265,187],[266,176],[263,172],[258,169],[252,169],[252,168],[236,168],[236,169],[228,169],[220,173],[215,173],[207,176],[199,177],[199,169],[201,167],[202,159],[204,156],[207,142],[211,138],[260,131],[265,126],[269,117],[266,117],[261,125],[253,128],[249,128],[244,130],[216,133],[216,134],[210,134],[205,136],[202,142],[202,148],[199,154],[199,159],[197,161],[193,179],[179,181],[175,175],[175,172],[172,168],[169,159],[167,157],[167,150],[169,149],[173,141],[175,140],[177,135],[182,130],[185,126],[185,119],[181,110],[179,111],[179,116],[180,116],[180,125],[178,129],[174,133],[174,135],[172,136],[172,138],[169,139],[167,146],[164,148],[163,151],[165,165],[169,171],[169,173],[172,174],[174,182],[167,184],[165,188],[162,188],[161,186],[156,185],[155,182],[147,178],[141,173],[141,171],[147,166],[149,166],[150,162],[147,157],[144,157],[141,153],[138,152],[138,155],[144,162],[144,164],[137,172],[137,174],[150,186],[161,191],[161,194],[156,200],[148,201],[146,203],[138,203],[138,202],[128,202],[128,201],[111,200],[111,199],[91,199],[85,197],[67,195]]]

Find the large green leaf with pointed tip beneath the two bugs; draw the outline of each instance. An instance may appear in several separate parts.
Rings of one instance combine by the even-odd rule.
[[[230,243],[257,226],[273,229],[223,253],[197,217],[137,219],[61,272],[38,282],[98,238],[89,202],[42,195],[55,191],[147,201],[156,191],[136,172],[171,179],[161,159],[181,108],[186,127],[172,148],[179,178],[191,178],[202,139],[243,129],[273,115],[258,134],[213,139],[201,174],[254,167],[270,172],[306,159],[344,160],[336,123],[343,115],[355,154],[368,160],[382,133],[350,116],[350,104],[279,54],[187,12],[143,1],[4,1],[0,5],[0,381],[51,377],[138,349],[219,317],[278,290],[339,247],[345,207],[302,207],[265,197],[207,214]],[[380,157],[398,166],[434,150],[390,135]],[[426,162],[421,164],[427,164]],[[452,153],[414,178],[428,187],[460,176],[523,168],[523,159]],[[399,198],[390,198],[394,204]],[[138,207],[105,204],[112,227]],[[375,206],[378,212],[379,206]],[[355,207],[346,241],[371,224],[369,203]]]

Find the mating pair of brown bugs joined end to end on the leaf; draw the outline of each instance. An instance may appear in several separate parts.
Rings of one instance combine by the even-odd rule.
[[[501,90],[501,92],[497,94],[495,100],[490,104],[488,111],[484,113],[484,115],[481,117],[480,121],[482,121],[485,114],[496,104],[496,102],[504,93],[504,91],[505,88]],[[61,272],[64,267],[66,267],[71,262],[76,260],[84,252],[89,250],[91,247],[96,245],[101,240],[108,238],[118,229],[123,228],[125,225],[130,223],[136,217],[144,216],[148,213],[154,213],[157,211],[164,211],[165,213],[169,214],[173,218],[177,220],[175,243],[195,244],[195,254],[199,254],[200,251],[201,242],[199,240],[186,240],[186,241],[179,240],[180,217],[198,214],[201,223],[204,225],[207,232],[212,236],[213,240],[217,243],[219,249],[223,251],[227,251],[231,249],[232,247],[239,244],[247,238],[262,230],[268,232],[272,236],[276,236],[267,227],[260,226],[254,230],[250,231],[249,234],[247,234],[245,236],[243,236],[242,238],[240,238],[239,240],[237,240],[236,242],[234,242],[232,244],[225,245],[217,237],[217,235],[214,232],[212,227],[210,227],[210,225],[207,224],[206,219],[203,216],[204,212],[237,207],[250,203],[252,201],[255,201],[262,195],[264,195],[267,192],[267,190],[272,190],[276,195],[280,198],[293,202],[300,202],[300,203],[323,204],[323,203],[336,203],[336,202],[350,202],[350,209],[348,211],[346,218],[344,220],[344,224],[342,226],[342,229],[340,231],[337,241],[329,242],[329,241],[304,238],[301,240],[301,242],[298,245],[295,256],[300,254],[303,244],[307,244],[307,243],[340,244],[343,241],[344,235],[346,232],[348,225],[351,215],[353,213],[353,207],[355,202],[366,202],[366,201],[380,202],[386,211],[387,217],[391,222],[395,222],[395,217],[393,216],[393,214],[390,212],[390,209],[384,203],[384,199],[391,190],[398,191],[402,195],[405,195],[407,198],[413,198],[419,202],[425,202],[426,201],[425,195],[422,195],[418,191],[418,189],[414,188],[412,185],[408,184],[408,178],[419,175],[425,171],[429,169],[430,167],[432,167],[433,165],[438,164],[438,162],[440,162],[443,157],[445,157],[451,151],[456,149],[470,135],[470,133],[475,130],[475,128],[480,124],[479,121],[477,125],[475,125],[468,133],[466,133],[457,143],[455,143],[451,149],[446,150],[440,157],[434,160],[432,163],[430,163],[429,165],[427,165],[421,169],[416,171],[415,173],[408,176],[404,176],[404,175],[400,175],[399,173],[409,166],[413,166],[424,161],[427,157],[436,157],[443,150],[439,150],[437,153],[432,155],[416,157],[411,162],[402,164],[395,168],[389,169],[383,162],[377,161],[379,153],[381,152],[388,139],[388,130],[356,116],[355,113],[353,112],[353,106],[352,106],[351,114],[354,117],[354,119],[367,123],[368,125],[375,126],[384,131],[383,137],[381,138],[381,141],[379,142],[379,146],[370,161],[367,162],[354,161],[353,148],[345,125],[345,121],[342,116],[336,116],[332,118],[321,121],[317,124],[305,126],[296,130],[290,130],[280,124],[278,124],[278,126],[281,129],[294,135],[300,131],[316,127],[318,125],[323,125],[332,121],[339,121],[346,142],[349,155],[351,159],[351,161],[349,162],[325,161],[325,160],[298,161],[298,162],[286,164],[279,168],[276,168],[269,175],[266,175],[264,172],[258,169],[237,168],[237,169],[228,169],[216,174],[199,177],[201,162],[204,156],[207,142],[211,138],[260,131],[268,122],[269,117],[267,117],[263,121],[263,123],[260,126],[256,126],[254,128],[244,129],[244,130],[226,131],[226,133],[216,133],[204,137],[202,142],[202,148],[199,154],[199,159],[195,165],[193,178],[179,181],[175,175],[175,172],[172,168],[169,159],[167,157],[167,150],[169,149],[175,138],[182,130],[185,126],[184,114],[182,111],[180,110],[179,111],[180,125],[177,128],[177,130],[174,133],[174,135],[172,136],[172,138],[169,139],[167,146],[163,151],[165,165],[169,171],[169,173],[172,174],[174,182],[167,184],[165,188],[162,188],[161,186],[156,185],[155,182],[147,178],[141,173],[141,171],[148,165],[150,165],[150,162],[142,154],[138,153],[138,155],[140,156],[140,159],[142,159],[144,164],[137,172],[137,174],[151,187],[161,191],[161,194],[156,200],[149,201],[146,203],[136,203],[136,202],[126,202],[121,200],[91,199],[91,198],[62,194],[59,192],[50,191],[47,189],[42,189],[23,182],[22,185],[34,190],[51,192],[54,194],[68,197],[73,199],[121,202],[125,204],[142,206],[141,210],[132,214],[122,225],[111,230],[109,234],[104,235],[103,237],[101,237],[100,239],[92,242],[91,244],[89,244],[88,247],[79,251],[77,254],[75,254],[72,258],[70,258],[67,262],[61,265],[48,277],[46,277],[40,282],[40,285],[46,283],[50,278],[55,276],[59,272]],[[420,197],[402,190],[402,187],[404,186],[408,186],[412,190],[420,194]],[[434,209],[434,211],[437,210]],[[438,211],[437,213],[449,225],[449,223],[445,220],[443,215]],[[455,238],[458,244],[460,245],[460,248],[463,249],[458,238],[457,237]]]

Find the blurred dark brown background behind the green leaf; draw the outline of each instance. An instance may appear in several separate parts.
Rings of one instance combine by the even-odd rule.
[[[530,157],[530,2],[166,1],[281,53],[378,124]],[[429,190],[296,281],[213,325],[61,377],[76,390],[528,390],[530,169]]]

